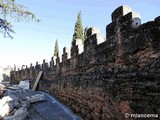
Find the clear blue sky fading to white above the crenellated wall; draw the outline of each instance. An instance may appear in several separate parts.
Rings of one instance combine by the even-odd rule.
[[[30,65],[43,59],[50,61],[58,39],[60,51],[70,46],[77,13],[82,11],[83,27],[97,26],[105,36],[111,13],[120,5],[128,5],[141,15],[142,23],[160,15],[159,0],[17,0],[34,12],[40,23],[12,21],[14,39],[0,35],[0,66]]]

